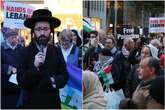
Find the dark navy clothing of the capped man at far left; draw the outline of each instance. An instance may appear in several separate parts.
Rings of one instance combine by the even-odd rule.
[[[2,108],[16,108],[20,89],[18,85],[9,82],[12,72],[8,72],[9,67],[13,66],[17,70],[21,67],[24,56],[23,47],[17,45],[13,50],[6,42],[1,44],[1,107]]]

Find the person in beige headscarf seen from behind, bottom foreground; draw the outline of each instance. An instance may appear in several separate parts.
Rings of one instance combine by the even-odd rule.
[[[106,109],[107,99],[97,75],[83,71],[83,109]]]

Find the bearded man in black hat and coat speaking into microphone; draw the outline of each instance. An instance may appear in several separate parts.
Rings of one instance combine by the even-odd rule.
[[[61,108],[59,89],[67,83],[68,72],[62,53],[48,43],[60,23],[47,9],[34,11],[24,22],[32,36],[26,48],[25,63],[17,77],[26,93],[23,95],[24,108]]]

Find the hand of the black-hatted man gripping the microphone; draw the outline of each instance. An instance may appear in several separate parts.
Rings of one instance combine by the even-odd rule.
[[[35,56],[34,66],[38,68],[45,62],[45,54],[43,52],[38,52]]]

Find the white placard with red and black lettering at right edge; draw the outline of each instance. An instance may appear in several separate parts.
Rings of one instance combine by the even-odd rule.
[[[165,33],[165,17],[150,18],[149,33]]]

